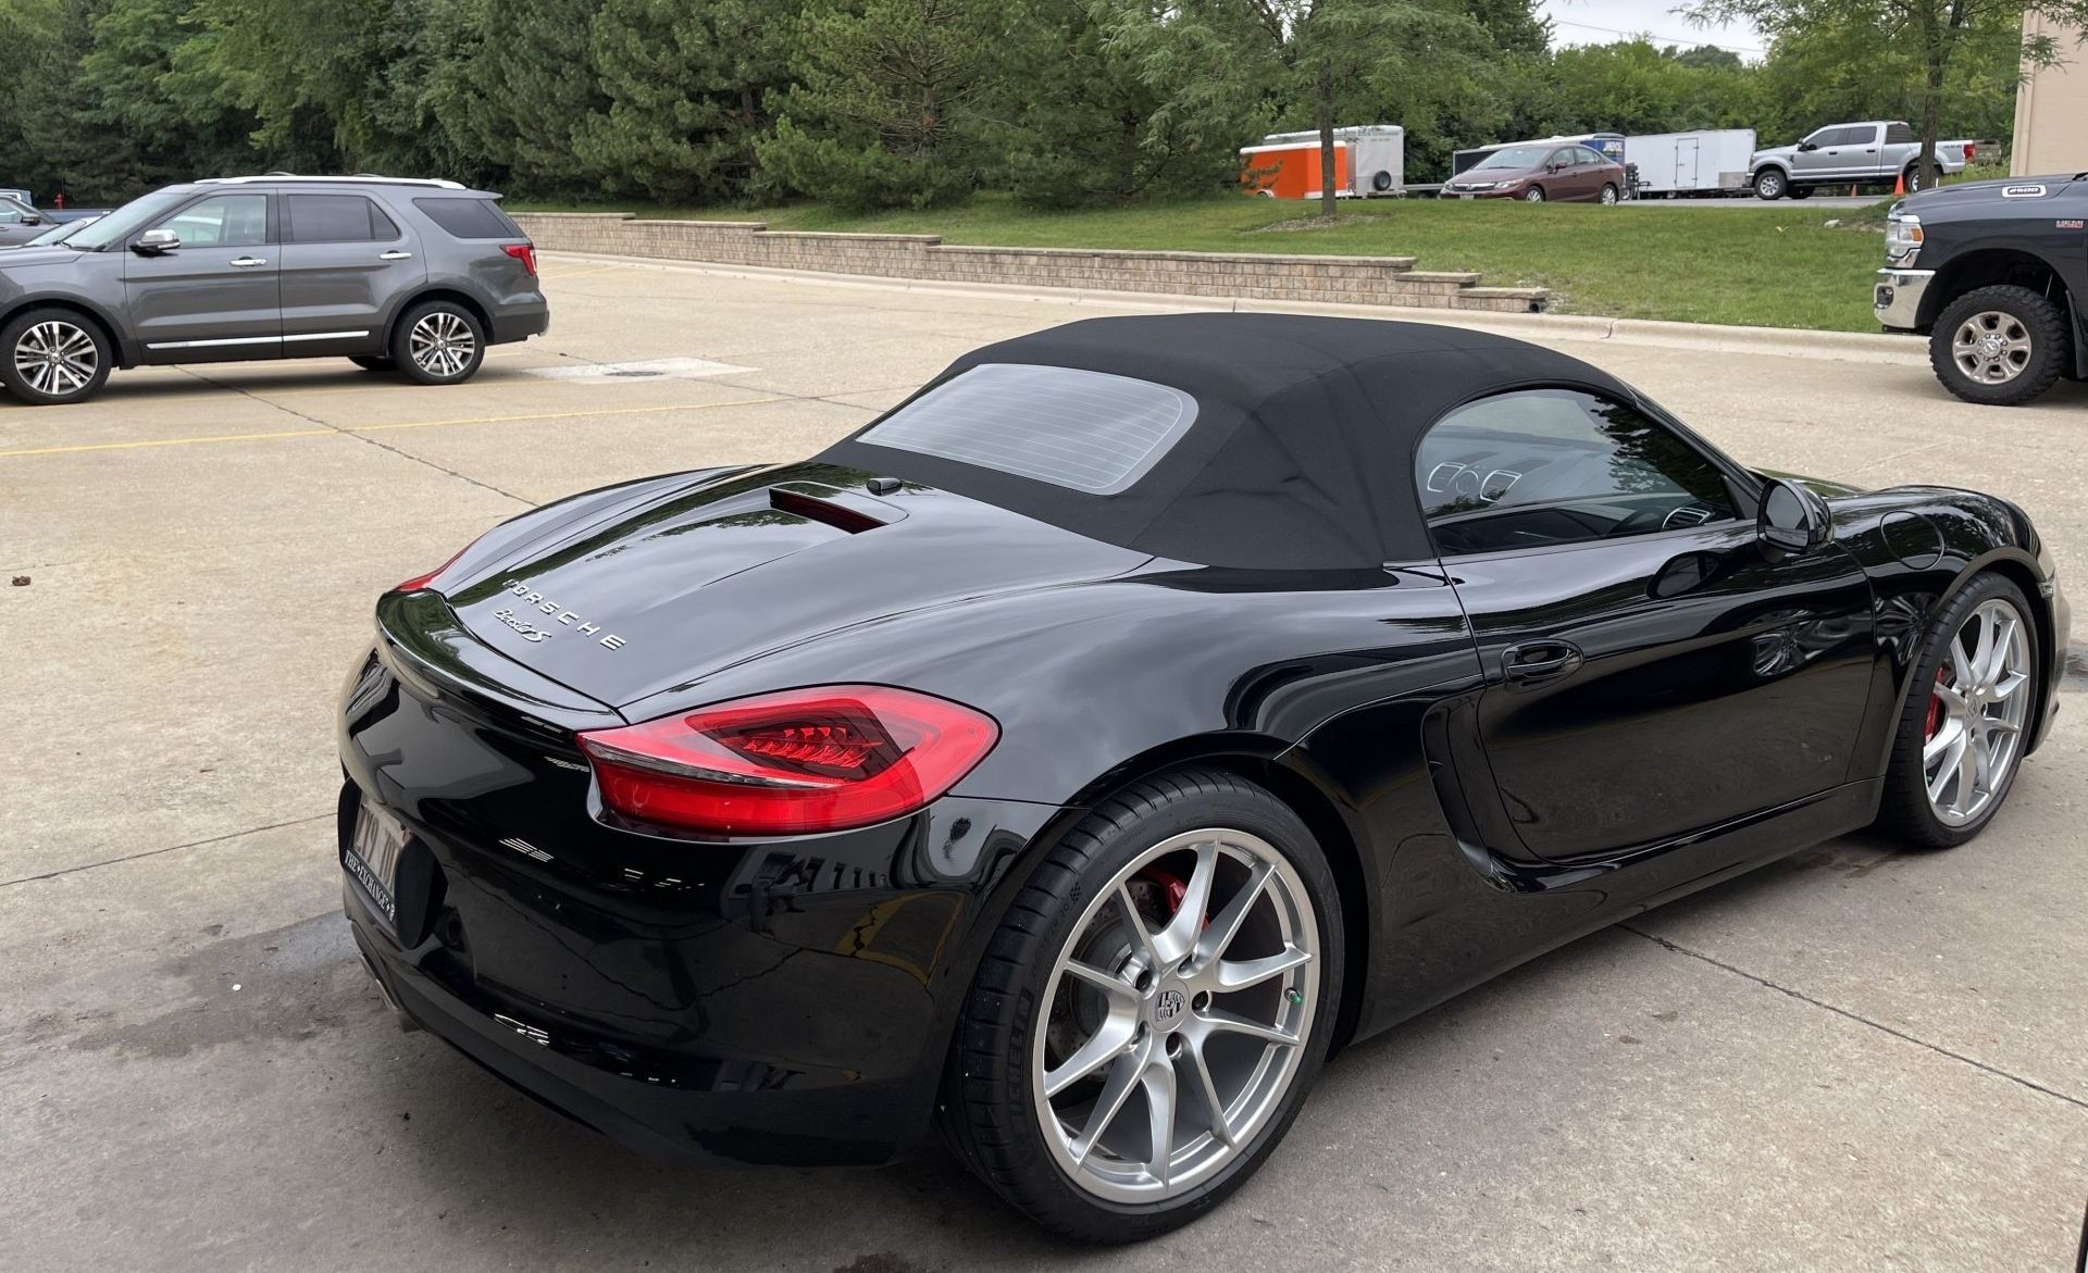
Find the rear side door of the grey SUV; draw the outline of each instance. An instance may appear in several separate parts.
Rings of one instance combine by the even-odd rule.
[[[372,355],[384,319],[428,278],[420,242],[367,194],[280,194],[288,357]]]

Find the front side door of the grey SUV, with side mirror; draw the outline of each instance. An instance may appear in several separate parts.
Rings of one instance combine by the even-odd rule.
[[[177,244],[150,255],[132,250],[123,263],[123,301],[144,361],[209,363],[282,353],[267,194],[207,194],[146,230],[171,230]]]

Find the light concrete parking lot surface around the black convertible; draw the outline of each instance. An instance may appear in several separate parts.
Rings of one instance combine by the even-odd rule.
[[[334,693],[376,593],[532,503],[800,457],[965,349],[1096,313],[578,257],[545,275],[551,334],[461,388],[219,365],[0,405],[0,1267],[2071,1258],[2082,674],[1979,841],[1806,849],[1366,1041],[1226,1208],[1140,1250],[1044,1240],[938,1148],[658,1167],[399,1033],[338,914],[332,826]],[[1560,349],[1748,463],[2023,503],[2088,616],[2088,388],[1969,407],[1919,344]]]

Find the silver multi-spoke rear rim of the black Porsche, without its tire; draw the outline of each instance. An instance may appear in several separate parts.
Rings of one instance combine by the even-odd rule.
[[[1299,1073],[1318,945],[1297,870],[1244,831],[1176,835],[1119,870],[1059,952],[1031,1046],[1061,1171],[1161,1202],[1238,1158]]]

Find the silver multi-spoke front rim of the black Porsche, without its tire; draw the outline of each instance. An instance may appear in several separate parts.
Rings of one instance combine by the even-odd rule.
[[[2030,634],[2021,611],[1994,597],[1950,634],[1929,691],[1921,778],[1946,826],[1984,814],[2009,785],[2030,716]]]

